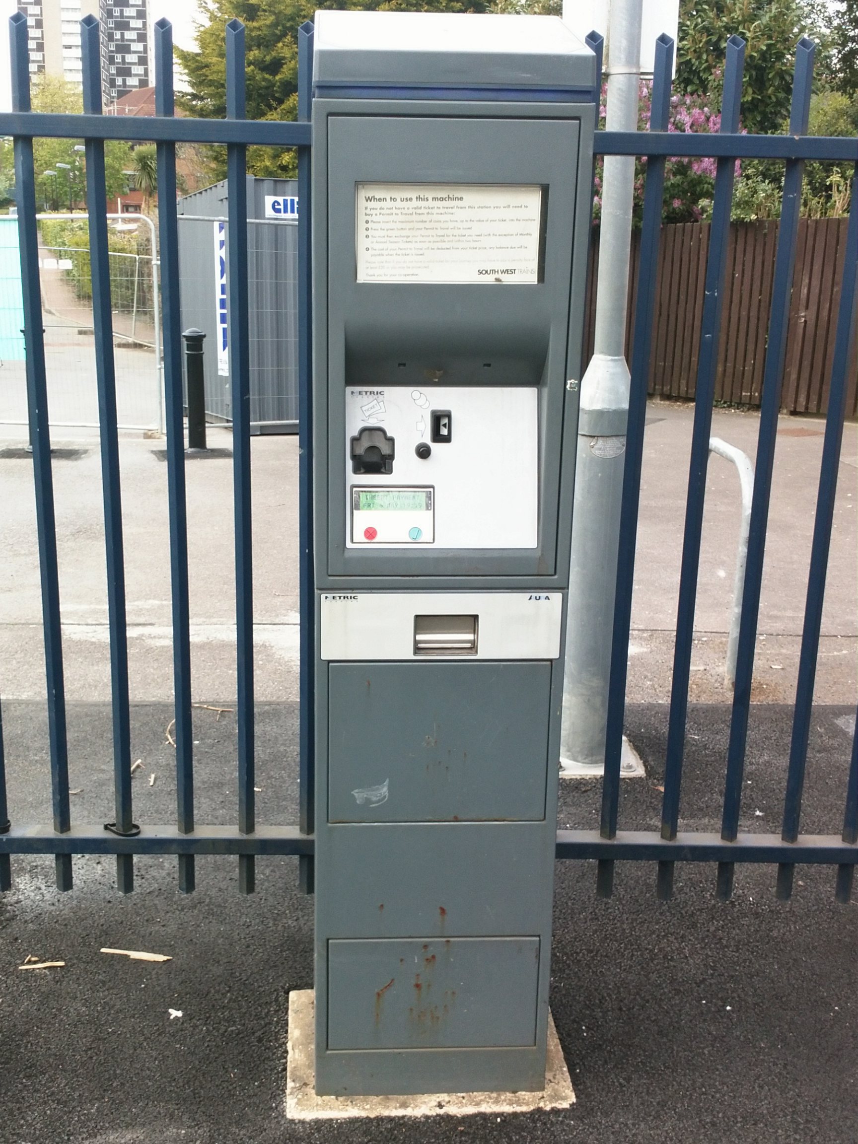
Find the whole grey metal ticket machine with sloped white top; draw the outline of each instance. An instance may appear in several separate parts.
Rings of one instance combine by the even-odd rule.
[[[596,63],[316,14],[316,1088],[541,1089]]]

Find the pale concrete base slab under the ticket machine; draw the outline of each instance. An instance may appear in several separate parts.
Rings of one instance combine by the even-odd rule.
[[[317,1096],[316,994],[289,993],[286,1115],[293,1120],[340,1120],[356,1117],[468,1117],[476,1113],[533,1112],[567,1109],[575,1102],[563,1050],[548,1015],[546,1087],[541,1093],[428,1093],[420,1096]]]

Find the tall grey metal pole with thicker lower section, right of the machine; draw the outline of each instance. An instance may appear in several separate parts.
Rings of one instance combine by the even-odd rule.
[[[643,0],[611,0],[606,129],[634,132]],[[561,772],[603,769],[629,370],[625,358],[634,156],[605,156],[594,355],[581,379]]]

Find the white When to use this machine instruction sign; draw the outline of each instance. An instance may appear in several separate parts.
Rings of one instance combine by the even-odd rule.
[[[359,283],[539,281],[542,188],[358,183]]]

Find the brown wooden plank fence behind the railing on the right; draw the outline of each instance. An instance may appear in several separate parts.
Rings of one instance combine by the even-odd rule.
[[[791,413],[825,414],[834,353],[834,326],[843,278],[848,219],[802,219],[793,277],[789,337],[781,407]],[[631,317],[639,244],[631,247],[626,357],[631,353]],[[715,399],[760,405],[765,334],[771,308],[777,222],[733,223],[718,349]],[[662,232],[656,329],[650,359],[650,394],[692,399],[709,248],[708,223],[675,223]],[[598,259],[594,233],[590,270]],[[595,277],[590,273],[590,283]],[[588,297],[585,362],[593,353],[595,288]],[[858,415],[858,353],[853,339],[847,415]]]

